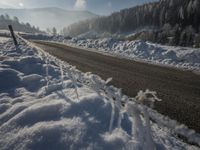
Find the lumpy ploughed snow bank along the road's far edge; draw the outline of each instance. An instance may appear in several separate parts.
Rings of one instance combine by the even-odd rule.
[[[150,42],[119,41],[112,38],[63,40],[55,38],[73,46],[91,48],[134,60],[173,66],[188,70],[200,71],[200,49],[164,46]]]

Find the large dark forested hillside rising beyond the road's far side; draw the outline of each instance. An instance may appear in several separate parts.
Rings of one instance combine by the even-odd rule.
[[[122,34],[144,27],[153,27],[156,30],[138,32],[129,39],[200,47],[200,1],[160,0],[124,9],[110,16],[72,24],[65,33],[75,36],[94,30]]]

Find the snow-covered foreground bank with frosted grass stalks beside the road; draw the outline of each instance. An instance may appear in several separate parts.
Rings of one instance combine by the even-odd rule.
[[[200,135],[18,39],[0,42],[0,149],[199,149]],[[123,106],[122,106],[123,103]],[[153,120],[153,122],[152,122]]]

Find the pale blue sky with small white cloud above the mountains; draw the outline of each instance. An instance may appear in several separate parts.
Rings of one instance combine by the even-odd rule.
[[[106,15],[123,8],[155,0],[0,0],[1,8],[60,7],[68,10],[88,10]]]

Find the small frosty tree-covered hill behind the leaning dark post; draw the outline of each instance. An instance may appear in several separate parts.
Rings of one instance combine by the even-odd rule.
[[[10,24],[14,27],[15,31],[42,33],[39,27],[31,26],[29,23],[21,23],[16,16],[11,18],[8,14],[0,15],[0,30],[8,30],[8,25]]]

